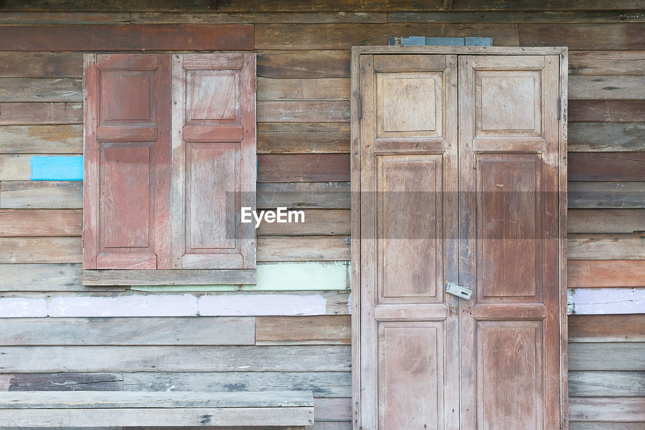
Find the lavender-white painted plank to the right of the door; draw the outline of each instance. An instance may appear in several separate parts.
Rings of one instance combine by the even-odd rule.
[[[645,289],[577,288],[568,290],[569,314],[643,314]]]

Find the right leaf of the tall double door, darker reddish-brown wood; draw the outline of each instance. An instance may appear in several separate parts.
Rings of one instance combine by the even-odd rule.
[[[462,429],[560,427],[558,94],[557,56],[459,57]]]

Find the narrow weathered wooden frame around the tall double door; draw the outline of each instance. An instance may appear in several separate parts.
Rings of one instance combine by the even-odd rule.
[[[352,225],[352,425],[361,427],[361,163],[360,123],[361,100],[359,60],[361,55],[372,54],[436,54],[436,55],[557,55],[560,57],[560,118],[559,127],[559,263],[560,263],[560,369],[561,369],[561,425],[568,428],[567,380],[567,295],[566,295],[566,215],[567,215],[567,77],[568,48],[566,46],[353,46],[351,87],[351,225]],[[376,430],[376,429],[370,429]]]

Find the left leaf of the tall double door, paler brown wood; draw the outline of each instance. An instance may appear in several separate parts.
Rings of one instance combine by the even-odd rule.
[[[457,57],[404,66],[361,57],[361,425],[457,428]]]

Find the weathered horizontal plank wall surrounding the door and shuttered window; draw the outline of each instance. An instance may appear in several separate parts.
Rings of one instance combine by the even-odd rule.
[[[524,12],[504,0],[455,0],[451,12],[423,11],[443,0],[343,0],[335,11],[320,0],[217,1],[217,10],[210,1],[183,10],[179,3],[146,10],[147,2],[134,1],[115,12],[98,0],[43,2],[42,10],[5,0],[0,25],[253,23],[259,205],[306,208],[308,216],[302,225],[263,225],[257,257],[264,262],[350,258],[351,46],[421,35],[570,46],[569,287],[608,294],[645,287],[641,1],[592,0],[587,10],[573,0],[526,1]],[[31,180],[32,156],[82,152],[82,65],[81,53],[0,53],[0,295],[17,309],[29,300],[56,307],[61,298],[146,294],[83,287],[81,182]],[[307,288],[292,294],[310,294]],[[315,292],[326,303],[315,316],[7,318],[0,389],[312,389],[314,428],[348,430],[348,292]],[[644,321],[642,314],[570,316],[572,430],[645,425]]]

